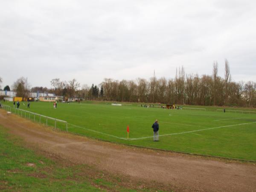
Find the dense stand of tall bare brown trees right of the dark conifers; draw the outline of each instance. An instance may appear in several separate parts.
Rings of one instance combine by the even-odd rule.
[[[231,81],[230,67],[225,59],[225,77],[218,76],[218,62],[213,62],[212,75],[185,74],[184,67],[176,69],[174,79],[116,81],[105,79],[102,82],[104,96],[111,101],[162,102],[190,105],[256,105],[256,83],[243,85]]]

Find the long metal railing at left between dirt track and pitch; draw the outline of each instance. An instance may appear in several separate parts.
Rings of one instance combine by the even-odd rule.
[[[57,122],[61,122],[65,125],[66,131],[68,132],[68,130],[67,130],[67,121],[63,121],[63,120],[60,120],[60,119],[56,119],[56,118],[52,118],[52,117],[49,117],[49,116],[41,115],[41,114],[38,114],[38,113],[33,113],[31,111],[26,111],[26,110],[23,110],[23,109],[12,108],[9,105],[2,105],[2,108],[4,110],[8,111],[8,112],[20,115],[21,117],[24,117],[25,119],[34,120],[34,122],[39,121],[39,123],[43,123],[43,124],[45,123],[46,126],[50,125],[48,120],[52,120],[54,122],[54,128],[55,129],[58,128],[57,127]],[[44,118],[45,121],[42,118]]]

